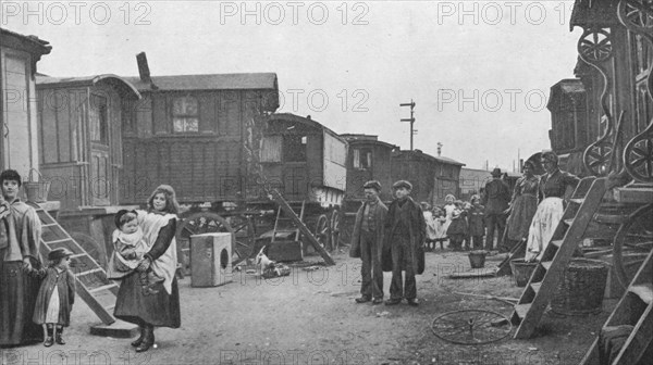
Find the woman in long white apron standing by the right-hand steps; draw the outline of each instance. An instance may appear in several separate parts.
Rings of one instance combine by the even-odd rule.
[[[528,231],[526,257],[528,262],[542,260],[551,237],[563,218],[563,197],[567,187],[576,187],[580,179],[558,168],[558,158],[552,151],[542,152],[542,165],[546,174],[540,177],[540,198],[533,222]]]

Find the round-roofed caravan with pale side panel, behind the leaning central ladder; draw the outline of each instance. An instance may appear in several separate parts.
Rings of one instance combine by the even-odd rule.
[[[264,182],[294,205],[326,250],[338,244],[346,159],[347,141],[310,116],[268,116],[260,159]],[[274,227],[263,238],[298,241],[296,227],[287,225],[287,219],[278,211]],[[308,248],[308,237],[304,238],[304,248]]]

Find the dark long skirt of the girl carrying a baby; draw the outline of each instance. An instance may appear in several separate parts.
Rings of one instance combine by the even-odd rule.
[[[176,278],[172,280],[170,294],[161,284],[155,289],[159,292],[144,295],[138,272],[125,276],[118,290],[114,316],[139,326],[149,324],[156,327],[180,328],[182,318]]]

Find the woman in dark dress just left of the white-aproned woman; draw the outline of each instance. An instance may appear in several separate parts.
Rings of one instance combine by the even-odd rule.
[[[528,239],[528,230],[538,210],[540,178],[533,174],[534,171],[535,165],[532,161],[523,164],[523,176],[515,184],[510,206],[505,211],[509,214],[506,229],[507,251],[517,242]]]

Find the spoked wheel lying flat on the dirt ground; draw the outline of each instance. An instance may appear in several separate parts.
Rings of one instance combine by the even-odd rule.
[[[503,325],[492,325],[498,322]],[[452,343],[484,344],[506,338],[513,325],[506,316],[496,312],[463,310],[435,317],[431,329],[435,336]]]

